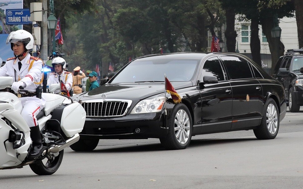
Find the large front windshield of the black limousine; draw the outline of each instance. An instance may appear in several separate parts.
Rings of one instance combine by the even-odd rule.
[[[190,81],[199,61],[193,59],[136,60],[127,65],[111,83],[164,82],[164,74],[169,81]]]

